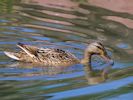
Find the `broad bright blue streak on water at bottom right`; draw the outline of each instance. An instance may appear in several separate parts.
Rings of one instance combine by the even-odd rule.
[[[69,90],[65,92],[51,93],[48,95],[53,96],[49,100],[64,99],[68,97],[77,97],[81,95],[91,95],[91,94],[96,94],[96,93],[101,93],[101,92],[106,92],[106,91],[108,92],[109,90],[110,91],[116,90],[128,84],[131,84],[132,82],[133,82],[133,77],[131,76],[128,78],[123,78],[123,79],[115,80],[112,82],[98,84],[96,86],[88,86],[88,87],[75,89],[75,90]]]

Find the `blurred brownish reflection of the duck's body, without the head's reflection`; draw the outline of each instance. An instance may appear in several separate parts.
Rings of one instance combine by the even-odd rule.
[[[40,75],[56,75],[59,73],[63,73],[66,67],[47,67],[40,64],[33,64],[33,63],[24,63],[24,62],[13,62],[10,65],[7,65],[10,68],[16,69],[24,69],[22,70],[20,76],[40,76]],[[25,72],[26,70],[26,72]],[[28,72],[27,72],[28,70]]]

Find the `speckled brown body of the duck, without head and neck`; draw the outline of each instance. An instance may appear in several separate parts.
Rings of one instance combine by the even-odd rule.
[[[80,61],[71,53],[60,49],[38,48],[35,46],[19,43],[17,45],[22,49],[17,53],[6,52],[17,57],[19,61],[43,64],[44,66],[70,66],[80,63]],[[7,55],[8,56],[8,55]],[[11,57],[11,56],[10,56]]]

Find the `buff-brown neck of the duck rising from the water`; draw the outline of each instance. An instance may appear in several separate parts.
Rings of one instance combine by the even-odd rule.
[[[88,51],[84,52],[84,57],[82,59],[82,64],[88,69],[88,71],[91,71],[91,56],[92,54],[90,54]]]

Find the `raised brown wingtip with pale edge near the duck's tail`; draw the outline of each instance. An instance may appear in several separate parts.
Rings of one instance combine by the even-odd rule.
[[[31,46],[31,45],[26,45],[26,44],[23,44],[23,43],[18,43],[17,46],[19,48],[21,48],[30,57],[32,57],[32,58],[36,57],[36,52],[38,50],[38,47]]]

